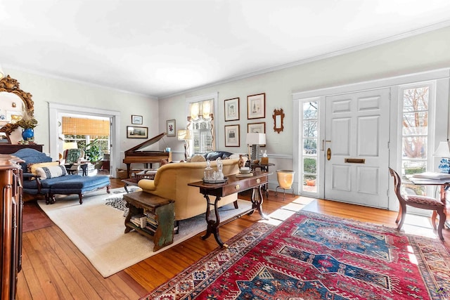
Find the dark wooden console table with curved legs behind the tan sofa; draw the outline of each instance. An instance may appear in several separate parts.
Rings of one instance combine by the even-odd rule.
[[[243,176],[243,175],[229,175],[227,177],[226,183],[204,183],[203,181],[196,181],[193,183],[188,183],[190,186],[195,186],[200,188],[200,193],[205,196],[205,200],[207,203],[206,206],[206,223],[207,230],[205,235],[202,236],[203,240],[206,240],[210,237],[211,234],[214,235],[217,244],[220,247],[228,247],[227,244],[221,241],[219,235],[219,227],[233,221],[235,219],[240,218],[244,214],[253,214],[253,211],[257,209],[259,215],[262,216],[263,219],[269,219],[262,212],[262,186],[265,185],[268,181],[270,173],[262,172],[262,171],[254,171],[252,176]],[[225,221],[224,223],[220,223],[219,211],[217,209],[217,202],[220,201],[221,197],[225,197],[231,195],[233,193],[243,192],[245,190],[252,189],[252,208],[248,211],[243,212],[242,214],[238,214],[233,218]],[[213,203],[210,201],[210,196],[215,196],[216,199]],[[214,213],[210,212],[210,207],[214,207]]]

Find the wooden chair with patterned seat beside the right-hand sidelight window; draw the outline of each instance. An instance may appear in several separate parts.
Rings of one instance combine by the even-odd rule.
[[[444,237],[442,236],[442,228],[444,228],[446,219],[446,215],[444,213],[444,204],[432,197],[425,197],[420,195],[401,195],[401,178],[399,174],[397,174],[397,172],[393,169],[389,168],[389,171],[391,176],[394,177],[395,195],[397,195],[397,199],[400,202],[399,215],[397,216],[397,220],[395,220],[395,223],[399,224],[397,229],[400,230],[405,221],[406,205],[409,205],[411,207],[418,207],[420,209],[433,210],[433,214],[431,216],[432,226],[434,228],[434,231],[437,231],[437,235],[439,235],[439,238],[441,240],[444,240]],[[439,224],[436,229],[437,214],[439,215]]]

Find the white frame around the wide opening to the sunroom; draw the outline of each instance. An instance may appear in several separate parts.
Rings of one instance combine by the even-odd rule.
[[[50,156],[53,160],[59,159],[60,151],[58,150],[58,114],[60,112],[110,118],[110,176],[116,178],[116,169],[120,166],[120,112],[115,110],[104,110],[93,107],[83,107],[49,102],[49,136],[53,137],[50,138],[49,141],[49,150]]]

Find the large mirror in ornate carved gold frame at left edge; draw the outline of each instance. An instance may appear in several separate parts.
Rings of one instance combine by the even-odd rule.
[[[0,132],[9,136],[18,128],[16,123],[23,111],[28,115],[34,115],[34,103],[32,94],[22,91],[20,84],[16,79],[9,75],[0,80]]]

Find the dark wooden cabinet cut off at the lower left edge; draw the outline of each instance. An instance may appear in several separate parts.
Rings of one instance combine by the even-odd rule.
[[[15,299],[22,263],[22,169],[17,157],[0,155],[0,299]]]

